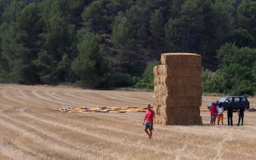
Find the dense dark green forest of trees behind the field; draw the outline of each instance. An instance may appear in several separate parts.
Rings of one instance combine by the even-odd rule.
[[[0,82],[153,88],[161,53],[202,55],[203,91],[256,94],[256,2],[0,0]]]

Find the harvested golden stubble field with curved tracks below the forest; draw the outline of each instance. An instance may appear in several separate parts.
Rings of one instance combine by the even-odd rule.
[[[219,97],[203,96],[202,107]],[[256,112],[244,126],[155,125],[143,132],[143,112],[64,113],[67,107],[152,104],[153,93],[82,90],[70,87],[0,85],[0,159],[255,159]],[[255,98],[249,98],[256,105]],[[237,114],[233,115],[234,124]]]

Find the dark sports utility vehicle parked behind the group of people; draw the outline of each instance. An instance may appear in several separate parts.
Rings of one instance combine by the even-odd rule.
[[[223,98],[219,99],[219,103],[223,104],[224,110],[228,107],[228,101],[231,102],[231,106],[233,106],[233,109],[238,109],[239,106],[242,104],[246,109],[249,109],[250,103],[246,96],[224,96]],[[211,103],[208,104],[208,109],[211,107]]]

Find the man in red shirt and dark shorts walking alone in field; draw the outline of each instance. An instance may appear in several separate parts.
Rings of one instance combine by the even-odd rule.
[[[155,112],[151,109],[150,104],[148,104],[147,110],[145,112],[145,118],[143,121],[144,130],[148,135],[148,138],[152,138],[153,122],[155,119]],[[149,132],[148,132],[149,129]]]

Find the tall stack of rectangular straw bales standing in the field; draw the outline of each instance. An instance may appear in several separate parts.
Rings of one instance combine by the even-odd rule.
[[[156,124],[202,124],[201,56],[192,53],[161,54],[161,65],[153,69]]]

